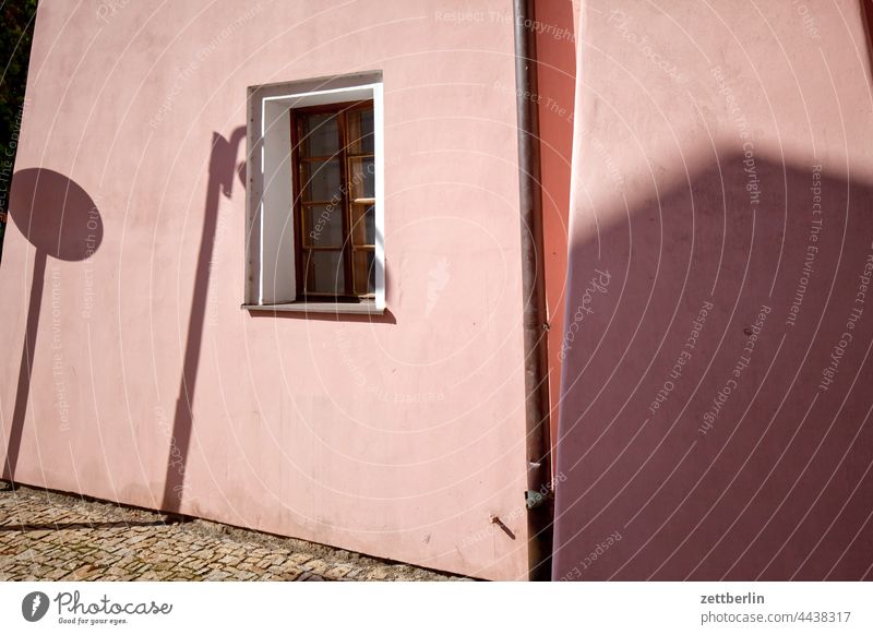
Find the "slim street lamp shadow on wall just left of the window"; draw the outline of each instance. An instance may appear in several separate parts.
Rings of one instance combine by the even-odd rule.
[[[167,458],[167,472],[164,480],[164,495],[160,508],[179,512],[184,495],[184,472],[191,445],[193,426],[193,404],[196,390],[200,349],[203,344],[203,324],[206,315],[206,301],[210,287],[210,266],[215,250],[218,227],[218,203],[222,196],[230,197],[234,178],[246,183],[244,164],[238,166],[237,155],[246,139],[246,127],[241,125],[225,139],[213,132],[210,145],[210,170],[206,183],[206,201],[203,211],[203,228],[200,250],[194,271],[194,288],[191,295],[191,312],[188,320],[182,375],[176,398],[172,419],[172,435]]]

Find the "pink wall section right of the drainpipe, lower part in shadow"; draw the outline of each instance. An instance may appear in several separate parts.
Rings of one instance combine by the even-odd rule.
[[[861,3],[579,17],[554,576],[871,579]]]

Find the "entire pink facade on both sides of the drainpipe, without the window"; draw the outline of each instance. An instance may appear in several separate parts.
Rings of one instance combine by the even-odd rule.
[[[535,7],[553,578],[873,578],[870,3]],[[3,478],[525,579],[512,15],[43,3]],[[291,278],[252,221],[284,103],[249,99],[349,76],[380,83],[385,311],[242,309]]]

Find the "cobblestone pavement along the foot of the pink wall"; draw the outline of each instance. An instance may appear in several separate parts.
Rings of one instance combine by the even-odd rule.
[[[0,580],[447,580],[407,564],[0,481]]]

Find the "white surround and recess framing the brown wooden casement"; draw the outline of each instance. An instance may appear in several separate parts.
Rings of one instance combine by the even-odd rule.
[[[324,313],[385,310],[385,179],[382,74],[363,73],[249,87],[246,289],[243,309]],[[375,297],[361,302],[296,301],[290,111],[372,99],[375,170]]]

